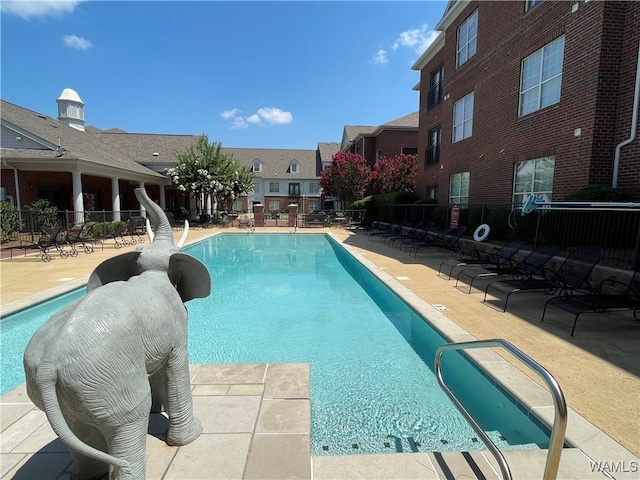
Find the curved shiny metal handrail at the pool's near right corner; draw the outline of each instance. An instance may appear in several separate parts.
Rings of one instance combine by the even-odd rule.
[[[453,392],[449,390],[449,388],[445,385],[444,379],[442,378],[442,354],[445,352],[445,350],[464,350],[469,348],[493,347],[502,347],[508,350],[513,356],[518,358],[518,360],[520,360],[527,367],[537,373],[538,376],[540,376],[545,381],[547,387],[549,387],[549,392],[551,393],[551,397],[553,398],[553,404],[555,407],[555,417],[553,419],[553,426],[551,427],[551,439],[549,442],[549,451],[547,453],[547,462],[545,464],[543,478],[545,480],[555,479],[558,476],[560,456],[562,455],[562,447],[564,445],[565,432],[567,430],[567,403],[565,402],[560,385],[553,377],[553,375],[551,375],[542,365],[526,355],[513,344],[501,338],[494,338],[491,340],[475,340],[472,342],[446,343],[444,345],[441,345],[440,348],[438,348],[438,350],[436,351],[435,372],[436,377],[438,378],[438,383],[440,384],[440,387],[444,390],[444,392],[449,396],[453,404],[458,408],[458,410],[460,410],[460,413],[462,413],[471,427],[473,427],[475,432],[482,438],[482,441],[487,446],[489,451],[493,454],[496,461],[498,462],[498,465],[500,466],[502,478],[504,480],[511,480],[512,476],[511,471],[509,470],[509,465],[507,464],[507,461],[505,460],[504,455],[502,454],[500,449],[498,449],[495,443],[493,443],[488,435],[482,430],[480,425],[478,425],[471,414],[467,412],[467,410],[462,406]]]

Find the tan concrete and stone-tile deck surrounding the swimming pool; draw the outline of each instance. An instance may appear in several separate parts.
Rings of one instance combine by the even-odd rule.
[[[217,232],[192,230],[189,241]],[[438,278],[438,266],[451,258],[448,254],[420,252],[414,259],[341,228],[298,232],[332,234],[453,341],[504,338],[545,366],[564,391],[570,407],[567,440],[577,447],[564,450],[558,478],[606,478],[596,464],[612,478],[639,477],[640,330],[633,317],[616,317],[610,327],[600,320],[584,320],[570,337],[568,317],[539,322],[544,295],[523,296],[528,298],[514,301],[508,313],[501,313],[482,305],[478,291],[463,294],[452,281]],[[48,264],[33,253],[3,260],[2,312],[82,285],[100,261],[133,248],[109,244],[92,255],[80,253],[65,260],[54,255]],[[435,304],[446,310],[436,310]],[[522,394],[531,411],[551,421],[549,395],[512,367],[505,360],[508,355],[484,350],[473,356],[508,389]],[[158,420],[162,425],[162,419],[152,422],[147,478],[499,478],[487,452],[310,457],[306,365],[194,365],[192,370],[196,414],[205,433],[191,445],[171,448],[161,441],[162,430],[156,425]],[[71,458],[24,387],[0,401],[0,478],[68,478]],[[514,478],[542,478],[544,454],[505,452]]]

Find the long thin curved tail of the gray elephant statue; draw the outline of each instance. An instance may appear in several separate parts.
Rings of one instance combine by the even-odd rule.
[[[40,395],[47,419],[53,431],[67,447],[86,457],[113,465],[116,470],[114,472],[115,478],[129,479],[133,477],[129,462],[87,445],[69,428],[58,402],[56,374],[51,365],[41,365],[38,368],[37,385],[40,387]]]

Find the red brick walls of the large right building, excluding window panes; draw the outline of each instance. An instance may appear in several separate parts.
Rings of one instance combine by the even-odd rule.
[[[477,50],[456,68],[457,30],[475,10]],[[444,45],[420,65],[418,194],[437,187],[438,201],[447,203],[450,175],[469,172],[470,203],[510,202],[514,165],[544,156],[555,157],[553,200],[611,185],[615,147],[631,130],[639,23],[640,2],[543,1],[528,12],[524,1],[469,2],[447,25]],[[562,35],[560,101],[519,116],[523,59]],[[442,102],[428,109],[431,73],[441,65]],[[454,103],[472,91],[472,135],[453,143]],[[426,166],[437,126],[440,161]],[[640,140],[621,152],[618,187],[640,198]]]

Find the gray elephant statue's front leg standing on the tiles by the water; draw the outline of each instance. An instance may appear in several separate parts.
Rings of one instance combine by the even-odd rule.
[[[186,344],[172,349],[169,354],[167,361],[167,407],[169,414],[167,443],[169,445],[187,445],[200,436],[202,425],[193,414],[189,355]]]

